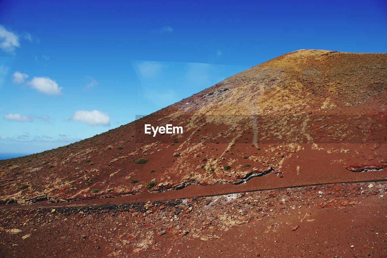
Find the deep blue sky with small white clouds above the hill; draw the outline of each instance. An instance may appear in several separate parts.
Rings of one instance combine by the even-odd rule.
[[[385,1],[0,1],[0,153],[150,114],[303,48],[387,52]]]

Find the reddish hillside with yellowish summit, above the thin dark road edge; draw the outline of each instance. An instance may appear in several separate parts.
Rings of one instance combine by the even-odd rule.
[[[0,200],[125,202],[386,179],[386,81],[387,54],[291,52],[130,124],[0,161]],[[144,134],[144,124],[167,123],[184,133]]]

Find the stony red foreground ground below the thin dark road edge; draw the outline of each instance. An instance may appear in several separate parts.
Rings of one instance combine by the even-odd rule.
[[[386,182],[0,210],[3,256],[381,257]],[[28,250],[28,251],[26,251]]]

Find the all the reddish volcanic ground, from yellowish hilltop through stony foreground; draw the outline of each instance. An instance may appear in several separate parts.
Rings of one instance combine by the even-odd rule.
[[[385,256],[386,78],[387,54],[298,50],[130,124],[0,161],[1,251]],[[184,133],[153,137],[144,124]]]

